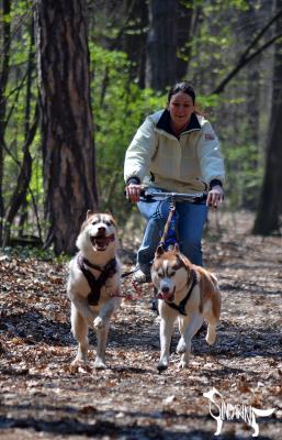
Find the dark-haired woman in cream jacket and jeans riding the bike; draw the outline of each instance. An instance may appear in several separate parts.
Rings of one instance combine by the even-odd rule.
[[[195,91],[189,82],[176,84],[168,94],[167,108],[147,117],[139,127],[125,155],[124,178],[127,198],[138,204],[147,220],[135,279],[149,280],[169,212],[166,201],[140,201],[144,186],[176,193],[207,191],[206,202],[177,204],[180,250],[192,263],[202,265],[207,207],[216,208],[224,199],[224,162],[211,123],[196,111]]]

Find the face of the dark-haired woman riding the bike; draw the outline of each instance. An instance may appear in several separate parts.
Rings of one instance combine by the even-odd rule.
[[[168,110],[170,112],[172,129],[181,130],[189,123],[195,107],[190,95],[179,91],[172,95],[168,105]]]

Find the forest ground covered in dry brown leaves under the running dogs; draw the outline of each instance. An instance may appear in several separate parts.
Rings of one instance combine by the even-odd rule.
[[[212,387],[225,404],[275,408],[257,419],[259,438],[282,439],[282,239],[251,237],[251,224],[246,212],[211,216],[204,254],[223,295],[217,342],[210,348],[203,333],[194,338],[190,366],[179,371],[176,330],[162,374],[149,287],[142,300],[124,302],[112,323],[109,370],[91,362],[75,369],[66,266],[2,254],[0,439],[211,439],[216,422],[203,393]],[[131,246],[124,241],[125,271]],[[131,289],[126,278],[124,290]],[[94,349],[92,333],[90,341]],[[218,439],[251,433],[234,419]]]

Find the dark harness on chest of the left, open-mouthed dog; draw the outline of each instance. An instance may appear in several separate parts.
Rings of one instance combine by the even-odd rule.
[[[101,268],[95,264],[90,263],[87,258],[84,258],[81,253],[77,256],[78,267],[84,275],[88,280],[90,287],[90,294],[88,295],[88,304],[90,306],[98,306],[101,288],[105,285],[108,278],[111,278],[114,274],[116,274],[116,260],[110,260],[106,265]],[[95,268],[100,271],[101,274],[98,278],[94,277],[91,271],[88,267]]]

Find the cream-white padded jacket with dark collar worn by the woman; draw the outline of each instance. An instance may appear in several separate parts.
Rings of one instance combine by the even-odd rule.
[[[146,186],[169,191],[206,190],[211,180],[224,182],[224,161],[211,123],[193,113],[180,138],[172,134],[168,110],[146,118],[125,155],[124,179],[137,177]]]

